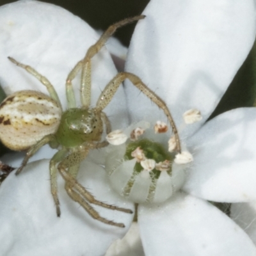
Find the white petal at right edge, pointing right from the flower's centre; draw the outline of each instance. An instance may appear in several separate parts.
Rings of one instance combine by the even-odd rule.
[[[256,200],[256,108],[207,122],[188,140],[194,162],[184,190],[217,202]]]

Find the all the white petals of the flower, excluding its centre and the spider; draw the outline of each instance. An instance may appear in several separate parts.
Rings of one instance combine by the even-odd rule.
[[[45,74],[58,86],[64,103],[68,71],[95,42],[96,33],[77,17],[49,4],[19,1],[9,6],[0,10],[1,83],[8,93],[29,86],[46,92],[33,77],[13,67],[6,58],[10,55]],[[147,17],[139,22],[132,38],[126,70],[141,77],[168,104],[182,147],[186,145],[194,159],[182,192],[164,204],[139,206],[138,225],[145,254],[256,255],[246,233],[205,202],[256,199],[256,109],[234,109],[205,124],[252,47],[254,3],[152,0],[144,13]],[[51,17],[51,26],[45,26],[41,15]],[[93,103],[100,86],[104,88],[115,76],[110,58],[103,52],[93,60],[97,66],[92,77]],[[126,88],[132,122],[146,119],[154,124],[165,120],[163,113],[131,84]],[[114,129],[127,127],[128,120],[124,92],[118,91],[120,94],[106,109],[113,117]],[[198,109],[203,119],[182,130],[182,114],[188,109]],[[162,135],[161,142],[167,147],[170,138]],[[91,156],[97,158],[95,154]],[[0,254],[102,255],[127,229],[92,220],[61,186],[62,215],[57,218],[48,163],[32,163],[18,177],[10,175],[0,187]],[[131,203],[111,191],[102,168],[89,159],[81,165],[78,179],[98,199],[133,209]],[[107,218],[131,225],[131,214],[95,208]]]

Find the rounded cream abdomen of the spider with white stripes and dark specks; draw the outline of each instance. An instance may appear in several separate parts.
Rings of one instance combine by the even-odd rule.
[[[45,135],[55,133],[61,109],[41,92],[23,90],[0,105],[0,138],[12,150],[26,150]]]

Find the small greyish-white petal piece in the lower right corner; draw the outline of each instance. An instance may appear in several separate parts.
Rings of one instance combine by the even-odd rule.
[[[256,244],[256,202],[232,204],[230,217]]]

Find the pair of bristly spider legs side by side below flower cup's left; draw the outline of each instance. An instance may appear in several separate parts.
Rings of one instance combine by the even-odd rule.
[[[132,213],[131,210],[122,207],[116,207],[115,205],[105,204],[103,202],[100,202],[99,200],[96,200],[94,196],[90,192],[88,192],[81,184],[79,184],[79,182],[77,182],[77,180],[74,178],[76,176],[76,173],[78,172],[78,168],[76,168],[76,166],[79,166],[82,158],[85,158],[87,154],[88,148],[84,148],[84,152],[82,150],[79,152],[72,152],[70,155],[65,157],[60,164],[58,164],[58,170],[66,182],[65,189],[68,195],[70,196],[70,198],[72,198],[72,200],[79,203],[95,220],[99,220],[103,223],[116,227],[125,227],[123,223],[116,223],[114,221],[103,218],[97,211],[95,211],[95,209],[93,209],[90,204],[95,204],[107,209],[127,213]],[[75,173],[74,170],[72,170],[73,173],[70,173],[70,168],[74,168],[74,170],[76,170]]]

